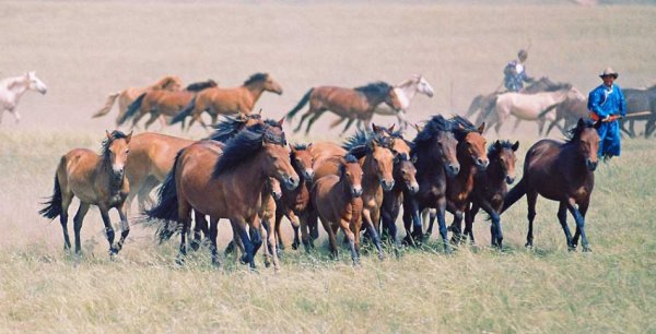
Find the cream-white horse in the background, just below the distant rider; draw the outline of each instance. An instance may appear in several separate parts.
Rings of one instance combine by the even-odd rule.
[[[537,94],[501,94],[494,103],[494,108],[492,108],[491,112],[485,119],[485,123],[488,124],[485,128],[490,129],[492,126],[494,126],[494,130],[496,131],[496,134],[499,134],[501,126],[508,119],[508,117],[515,116],[517,119],[515,120],[514,129],[517,129],[519,122],[523,120],[536,121],[538,122],[539,128],[538,133],[541,135],[542,129],[544,128],[544,122],[553,122],[557,118],[555,110],[551,110],[547,114],[543,114],[542,111],[549,107],[564,102],[567,98],[581,99],[584,97],[578,90],[571,86],[555,92]]]

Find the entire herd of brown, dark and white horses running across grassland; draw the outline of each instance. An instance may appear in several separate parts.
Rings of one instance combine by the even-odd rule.
[[[25,91],[46,92],[34,72],[13,79],[14,83],[7,84],[8,81],[1,86],[17,97],[13,107],[4,109],[16,118],[15,103]],[[629,112],[632,104],[634,109],[656,109],[656,99],[652,99],[655,88],[636,93],[626,90]],[[80,252],[84,216],[90,205],[97,205],[114,257],[129,235],[128,217],[132,216],[130,207],[137,198],[140,213],[145,219],[156,222],[160,240],[179,232],[178,262],[184,262],[188,244],[197,250],[204,237],[212,262],[218,265],[216,236],[219,220],[224,218],[230,220],[233,231],[230,249],[241,250],[243,263],[255,267],[255,255],[262,248],[266,264],[272,262],[279,269],[279,249],[285,244],[280,232],[283,217],[294,229],[292,248],[303,244],[311,251],[320,222],[331,254],[338,255],[337,234],[341,230],[352,261],[358,264],[362,236],[383,259],[384,239],[395,248],[421,244],[432,235],[435,219],[445,252],[467,239],[473,243],[472,224],[480,210],[490,217],[491,244],[502,248],[501,215],[524,195],[529,223],[526,246],[530,247],[535,205],[540,194],[560,203],[558,218],[569,248],[575,250],[581,239],[583,250],[588,251],[585,215],[598,164],[599,138],[595,127],[599,123],[586,120],[587,111],[585,115],[571,111],[579,108],[585,98],[570,84],[542,77],[526,91],[478,96],[467,112],[467,117],[479,112],[476,122],[460,116],[447,119],[436,115],[422,127],[415,126],[418,133],[410,140],[406,138],[406,112],[412,98],[417,94],[429,97],[434,94],[421,75],[412,75],[396,86],[384,82],[355,88],[316,86],[278,121],[266,120],[261,110],[253,112],[263,92],[282,94],[282,87],[270,74],[256,73],[235,88],[221,88],[212,80],[183,88],[178,77],[166,76],[149,87],[109,95],[94,117],[107,115],[118,99],[117,126],[130,118],[136,126],[150,115],[145,127],[161,119],[163,124],[180,122],[183,129],[188,129],[198,121],[211,126],[213,133],[192,141],[155,132],[134,135],[118,130],[107,132],[99,155],[75,148],[61,157],[52,196],[39,213],[50,219],[59,217],[65,248],[70,249],[68,208],[73,198],[78,198],[80,206],[73,224],[75,252]],[[7,98],[7,93],[0,93],[0,97]],[[636,103],[639,99],[632,96],[639,95],[646,102]],[[354,121],[359,129],[342,143],[288,143],[284,120],[291,120],[305,105],[309,108],[294,131],[302,130],[307,121],[307,133],[325,111],[340,117],[331,128],[348,120],[342,133]],[[200,118],[206,111],[211,124]],[[374,114],[397,116],[399,129],[376,127],[371,122]],[[508,191],[508,184],[515,181],[515,153],[519,143],[497,140],[488,145],[483,133],[491,126],[499,132],[509,115],[517,120],[537,120],[540,132],[551,121],[547,131],[559,127],[569,139],[534,144],[527,152],[522,180]],[[190,121],[185,124],[188,117]],[[651,117],[646,118],[647,136],[656,128]],[[560,119],[565,120],[565,127],[558,124]],[[625,131],[635,134],[633,123]],[[157,187],[159,198],[153,201],[151,193]],[[112,208],[118,211],[121,220],[121,235],[116,243],[108,215]],[[401,208],[403,238],[398,236],[396,226]],[[566,224],[567,211],[576,223],[573,236]],[[448,227],[447,213],[454,218]]]

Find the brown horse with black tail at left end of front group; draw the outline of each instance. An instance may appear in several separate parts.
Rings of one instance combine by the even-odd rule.
[[[59,216],[63,229],[63,247],[71,248],[68,235],[68,208],[73,198],[80,200],[80,208],[73,218],[75,230],[75,253],[80,253],[80,230],[90,205],[101,210],[105,232],[109,242],[109,255],[117,254],[130,232],[130,225],[121,210],[130,186],[125,178],[125,166],[128,159],[128,144],[132,133],[126,135],[120,131],[107,132],[103,142],[103,153],[95,154],[91,150],[75,148],[61,157],[55,175],[55,191],[47,206],[39,211],[46,218]],[[114,244],[114,228],[109,222],[109,210],[116,208],[120,216],[121,234],[118,243]]]

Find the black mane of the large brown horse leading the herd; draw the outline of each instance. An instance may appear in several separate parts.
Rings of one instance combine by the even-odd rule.
[[[223,172],[235,168],[241,163],[254,157],[265,146],[262,142],[284,145],[284,133],[274,133],[266,123],[250,126],[229,140],[223,148],[223,155],[214,165],[212,179],[220,177]]]

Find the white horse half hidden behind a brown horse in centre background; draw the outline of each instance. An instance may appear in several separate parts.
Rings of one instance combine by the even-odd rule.
[[[380,104],[378,107],[376,107],[376,109],[374,109],[374,114],[396,116],[399,119],[399,126],[401,127],[401,130],[405,130],[408,127],[406,112],[410,108],[410,104],[412,103],[412,99],[417,93],[426,95],[427,97],[433,97],[433,94],[435,94],[433,92],[433,86],[431,86],[425,77],[420,74],[412,74],[410,79],[394,86],[394,92],[401,103],[401,109],[397,111],[387,104]]]

